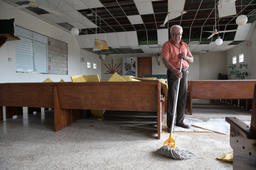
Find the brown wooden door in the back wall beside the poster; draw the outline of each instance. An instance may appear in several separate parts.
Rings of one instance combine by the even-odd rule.
[[[143,75],[152,74],[152,57],[138,57],[138,78],[142,78]]]

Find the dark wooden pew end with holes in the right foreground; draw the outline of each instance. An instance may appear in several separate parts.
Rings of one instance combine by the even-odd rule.
[[[226,117],[230,124],[233,169],[256,169],[256,85],[254,87],[251,127],[236,117]]]

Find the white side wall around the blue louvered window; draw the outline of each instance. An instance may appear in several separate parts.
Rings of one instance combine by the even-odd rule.
[[[66,82],[70,82],[70,76],[82,74],[99,74],[101,79],[101,59],[98,55],[85,51],[85,61],[89,60],[90,62],[96,62],[99,66],[94,70],[93,68],[87,69],[87,63],[80,62],[80,53],[82,54],[84,50],[81,50],[80,52],[80,47],[75,36],[32,15],[29,15],[22,10],[8,10],[8,8],[11,7],[13,6],[0,1],[0,19],[15,18],[14,25],[18,25],[39,34],[55,38],[68,44],[68,75],[17,73],[15,71],[15,41],[7,41],[0,48],[0,83],[42,82],[48,77],[54,82],[59,82],[61,79]],[[9,62],[8,58],[12,58],[12,61]]]

